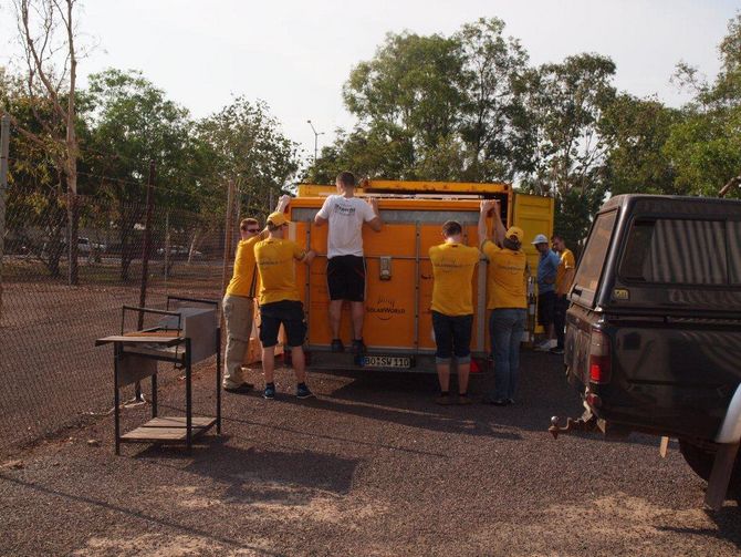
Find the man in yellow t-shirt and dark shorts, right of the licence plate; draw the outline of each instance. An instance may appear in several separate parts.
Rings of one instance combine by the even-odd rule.
[[[440,396],[438,404],[450,404],[450,360],[456,357],[458,369],[458,403],[470,404],[468,375],[471,369],[471,326],[473,305],[471,279],[481,254],[466,246],[459,223],[442,225],[445,243],[429,249],[432,264],[432,329],[437,351]]]

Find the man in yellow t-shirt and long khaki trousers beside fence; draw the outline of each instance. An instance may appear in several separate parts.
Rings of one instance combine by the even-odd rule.
[[[275,210],[283,212],[291,199],[284,195]],[[258,268],[254,262],[254,245],[267,233],[261,234],[260,223],[246,218],[239,224],[237,255],[231,281],[221,301],[223,320],[227,326],[227,348],[223,358],[223,380],[221,385],[230,393],[248,393],[252,389],[242,378],[242,363],[250,342],[254,319],[254,297],[258,293]]]

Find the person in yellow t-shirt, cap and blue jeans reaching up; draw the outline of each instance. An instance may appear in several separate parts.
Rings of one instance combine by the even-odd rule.
[[[489,260],[487,309],[489,338],[494,355],[494,392],[483,402],[497,406],[514,403],[514,391],[520,371],[520,342],[525,328],[528,288],[525,254],[522,251],[522,228],[504,229],[500,205],[494,200],[481,202],[479,239],[481,251]],[[487,217],[493,213],[494,241],[489,238]]]

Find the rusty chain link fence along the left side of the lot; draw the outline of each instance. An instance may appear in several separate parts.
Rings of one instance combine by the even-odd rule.
[[[24,192],[9,196],[6,212],[0,452],[111,411],[112,351],[94,348],[94,341],[121,332],[123,305],[139,306],[146,234],[145,204],[81,196],[77,281],[70,286],[64,198]],[[155,205],[146,307],[163,309],[167,295],[220,297],[222,276],[230,276],[232,264],[227,257],[225,269],[225,252],[231,251],[227,221],[238,238],[236,216]],[[134,330],[136,323],[125,328]],[[212,369],[212,362],[207,365]],[[159,382],[176,377],[164,373]],[[148,383],[143,389],[146,394]]]

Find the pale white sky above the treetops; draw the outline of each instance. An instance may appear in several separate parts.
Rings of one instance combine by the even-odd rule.
[[[355,120],[342,101],[354,65],[373,58],[387,33],[449,35],[498,17],[531,64],[581,52],[608,55],[615,85],[679,106],[688,94],[670,83],[685,61],[712,79],[718,44],[741,0],[87,0],[82,40],[97,44],[80,62],[85,75],[106,68],[140,70],[168,96],[203,117],[237,95],[265,101],[304,156]],[[0,65],[18,56],[10,0],[0,0]]]

